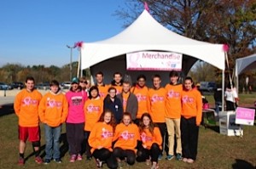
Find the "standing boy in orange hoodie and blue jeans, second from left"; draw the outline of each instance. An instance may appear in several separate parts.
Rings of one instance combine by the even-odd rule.
[[[67,99],[61,93],[59,82],[51,81],[49,88],[49,93],[44,95],[39,104],[39,118],[44,123],[45,131],[44,164],[49,164],[52,158],[61,163],[61,125],[66,121],[68,111]]]

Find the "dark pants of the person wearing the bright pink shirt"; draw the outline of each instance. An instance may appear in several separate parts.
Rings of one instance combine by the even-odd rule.
[[[83,123],[66,123],[67,143],[69,144],[70,155],[81,153],[84,140],[84,122]]]

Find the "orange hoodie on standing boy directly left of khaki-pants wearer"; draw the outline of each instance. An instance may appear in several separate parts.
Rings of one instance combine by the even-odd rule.
[[[166,122],[166,89],[150,88],[148,91],[148,113],[154,122]]]

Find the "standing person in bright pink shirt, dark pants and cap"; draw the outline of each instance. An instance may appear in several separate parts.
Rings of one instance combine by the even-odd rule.
[[[70,91],[66,93],[68,114],[66,121],[67,143],[69,144],[70,162],[82,161],[84,140],[84,103],[87,94],[79,86],[79,79],[73,77]]]

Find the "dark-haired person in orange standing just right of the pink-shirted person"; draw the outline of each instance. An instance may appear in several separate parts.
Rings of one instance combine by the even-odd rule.
[[[90,87],[89,99],[84,104],[84,116],[85,116],[85,142],[86,142],[86,160],[91,160],[90,144],[88,138],[90,137],[90,132],[96,122],[100,119],[103,110],[103,100],[99,95],[99,89],[96,86]]]

